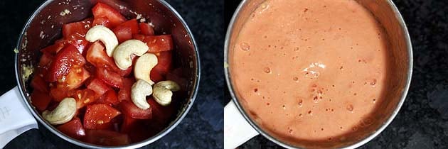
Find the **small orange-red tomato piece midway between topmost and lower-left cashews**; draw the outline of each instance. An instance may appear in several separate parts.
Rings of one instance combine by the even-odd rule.
[[[76,89],[82,85],[82,83],[90,77],[90,73],[80,65],[73,65],[67,77],[65,77],[65,83],[68,89]]]

